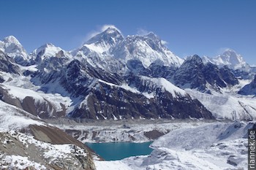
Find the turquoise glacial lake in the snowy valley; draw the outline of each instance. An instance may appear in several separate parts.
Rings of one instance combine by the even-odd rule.
[[[151,143],[110,142],[86,143],[86,145],[104,158],[105,161],[116,161],[131,156],[149,155],[152,152],[152,149],[149,147]]]

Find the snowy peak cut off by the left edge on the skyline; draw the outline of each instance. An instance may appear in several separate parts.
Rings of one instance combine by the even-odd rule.
[[[28,54],[15,36],[7,36],[0,41],[0,50],[15,59],[16,63],[26,65],[29,61]]]

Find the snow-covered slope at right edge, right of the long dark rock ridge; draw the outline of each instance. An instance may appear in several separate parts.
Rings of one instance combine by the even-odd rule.
[[[230,95],[230,93],[201,93],[186,89],[197,98],[217,119],[255,120],[256,100],[250,96]]]

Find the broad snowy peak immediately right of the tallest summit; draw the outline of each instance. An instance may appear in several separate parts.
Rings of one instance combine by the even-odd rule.
[[[110,53],[115,58],[121,58],[126,62],[129,60],[139,60],[145,68],[148,68],[151,63],[178,67],[183,62],[181,58],[178,58],[178,56],[168,50],[162,44],[162,40],[153,33],[146,36],[127,36],[116,47],[113,47]]]

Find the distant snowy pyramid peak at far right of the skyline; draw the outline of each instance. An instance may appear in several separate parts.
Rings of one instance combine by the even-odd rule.
[[[236,53],[235,50],[227,49],[221,55],[218,55],[215,58],[203,57],[204,63],[210,62],[214,63],[217,66],[228,66],[230,69],[245,69],[250,68],[249,64],[244,61],[242,55]]]

